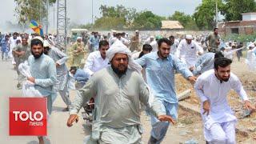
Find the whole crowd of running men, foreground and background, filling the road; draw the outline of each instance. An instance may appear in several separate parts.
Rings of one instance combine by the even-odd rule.
[[[255,66],[254,47],[250,43],[247,51],[250,70]],[[218,28],[206,38],[149,36],[143,42],[138,30],[131,38],[115,30],[103,37],[98,32],[84,33],[66,53],[51,34],[5,34],[1,40],[2,60],[13,58],[16,67],[27,61],[30,66],[29,78],[17,70],[17,87],[24,80],[33,82],[47,97],[49,114],[60,94],[66,103],[64,111],[70,112],[67,126],[72,126],[82,106],[94,102],[93,129],[86,143],[142,143],[141,105],[150,114],[148,143],[161,143],[170,124],[178,120],[177,73],[192,83],[202,102],[206,142],[235,143],[237,118],[227,93],[234,89],[246,109],[255,109],[242,82],[230,72],[234,54],[240,61],[245,48],[242,42],[222,45]],[[73,102],[69,93],[72,80],[78,89]],[[44,143],[42,136],[38,139]]]

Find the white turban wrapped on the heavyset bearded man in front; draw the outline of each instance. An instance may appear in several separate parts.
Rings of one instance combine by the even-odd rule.
[[[106,50],[106,58],[112,61],[115,54],[127,54],[129,58],[128,68],[137,71],[139,74],[142,72],[142,66],[134,62],[134,58],[131,57],[132,53],[121,41],[116,40],[113,45],[110,46],[109,50]]]

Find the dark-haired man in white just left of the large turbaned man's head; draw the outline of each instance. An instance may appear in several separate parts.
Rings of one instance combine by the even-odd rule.
[[[99,42],[99,51],[94,51],[89,54],[86,59],[86,64],[83,70],[86,74],[93,75],[98,70],[102,70],[106,66],[109,66],[109,59],[106,58],[106,50],[109,49],[109,43],[106,41]]]

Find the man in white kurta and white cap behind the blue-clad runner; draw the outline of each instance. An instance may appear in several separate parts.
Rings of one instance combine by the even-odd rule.
[[[194,66],[198,54],[201,55],[203,53],[203,49],[198,45],[197,42],[192,40],[191,35],[186,35],[186,39],[183,39],[176,51],[176,55],[178,58],[182,60],[182,62],[186,63],[188,68]]]

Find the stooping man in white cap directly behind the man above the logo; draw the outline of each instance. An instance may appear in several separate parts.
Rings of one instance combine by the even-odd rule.
[[[58,50],[58,48],[50,46],[50,43],[46,40],[43,45],[44,53],[49,55],[50,58],[53,58],[56,65],[57,82],[54,85],[54,90],[61,95],[63,102],[66,103],[67,107],[63,111],[68,111],[70,109],[71,101],[68,91],[69,71],[66,67],[66,61],[69,57],[61,50]],[[54,100],[55,98],[53,99],[53,102]]]

